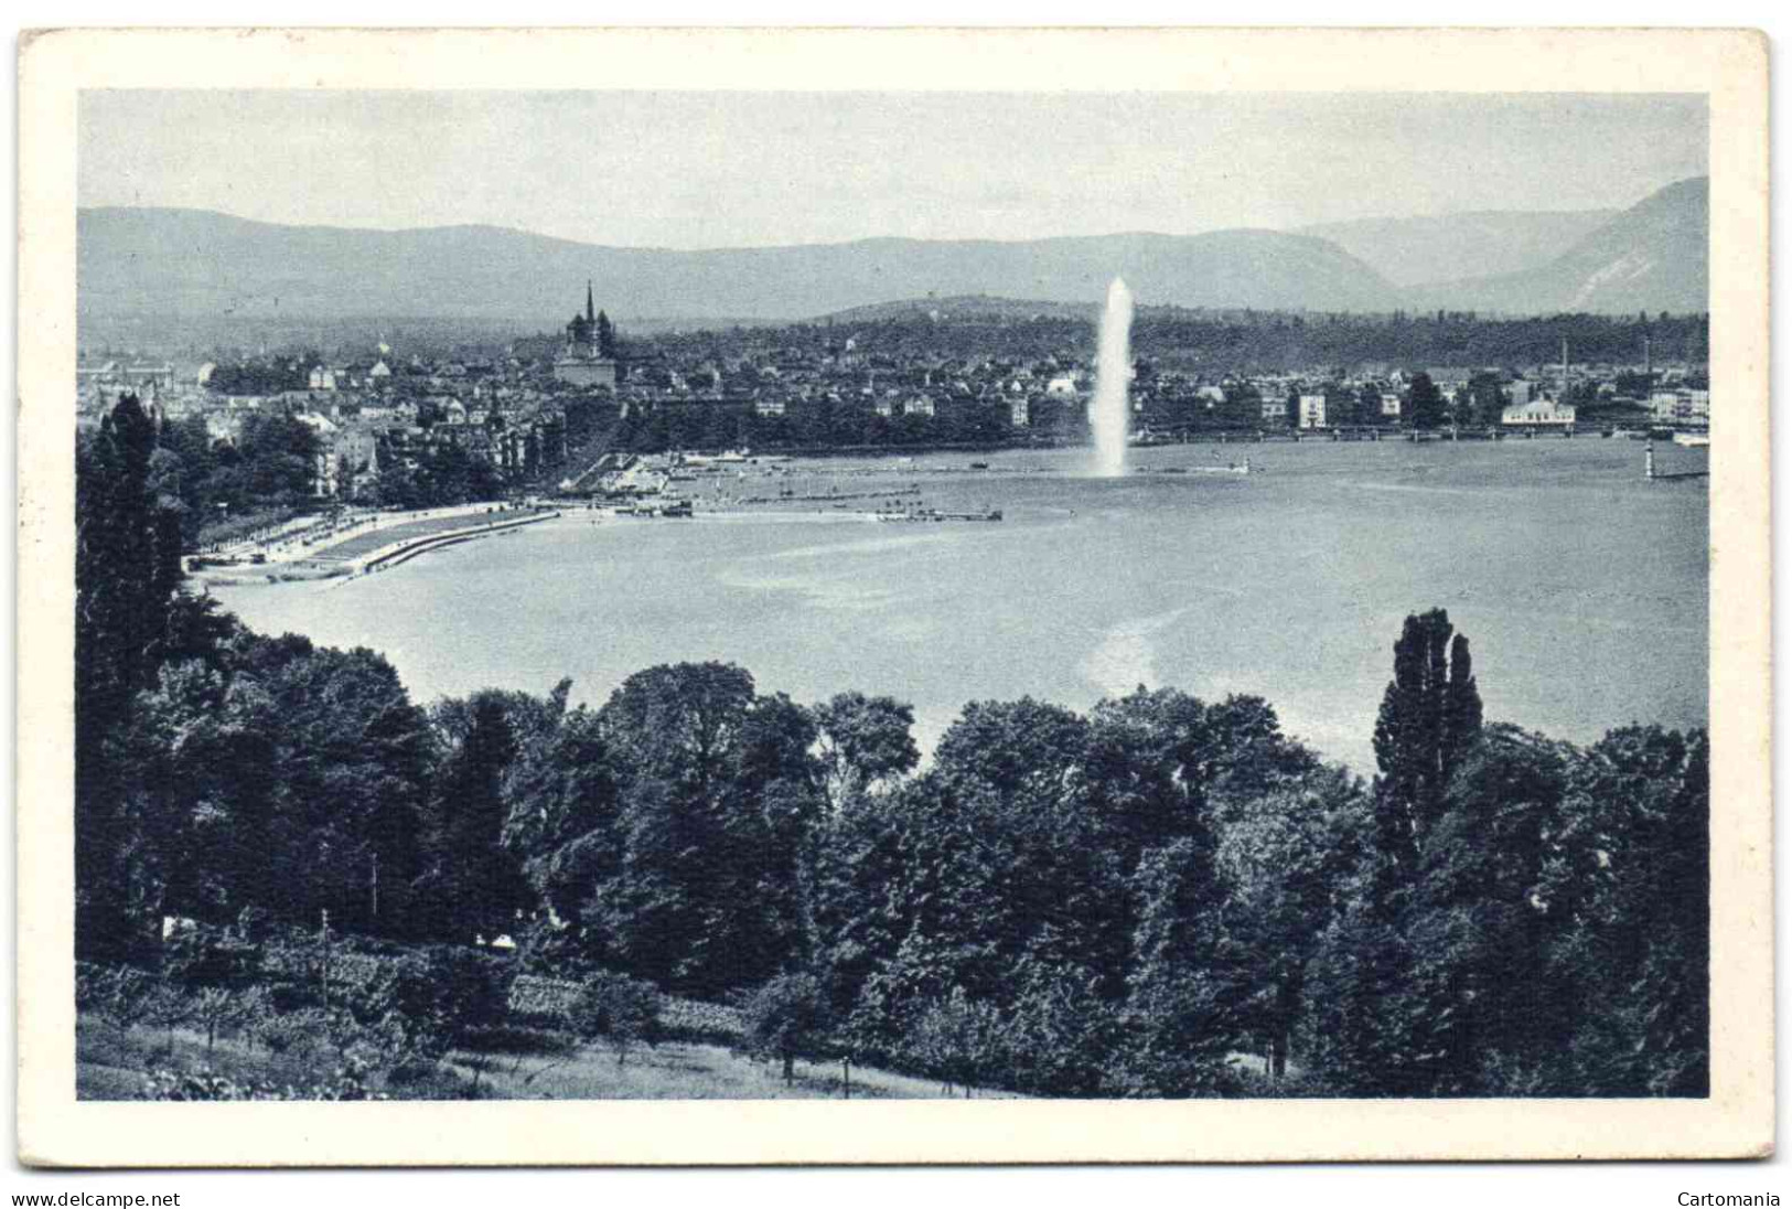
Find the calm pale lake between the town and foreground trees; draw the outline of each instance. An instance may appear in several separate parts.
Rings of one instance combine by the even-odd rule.
[[[1245,456],[1251,475],[1202,472]],[[880,524],[826,504],[568,513],[383,574],[213,592],[256,630],[383,651],[423,701],[572,676],[573,700],[597,705],[642,667],[715,658],[799,701],[907,700],[932,746],[971,700],[1088,709],[1170,685],[1263,696],[1285,730],[1364,775],[1401,621],[1443,606],[1489,719],[1581,743],[1631,721],[1706,723],[1706,479],[1645,481],[1641,443],[1188,445],[1134,450],[1147,474],[1122,479],[1082,477],[1088,457],[706,477],[711,495],[919,486],[928,508],[1000,508],[1000,524]],[[1704,450],[1658,445],[1658,459],[1706,468]]]

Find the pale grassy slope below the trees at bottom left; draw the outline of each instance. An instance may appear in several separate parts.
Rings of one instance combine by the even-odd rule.
[[[75,1031],[75,1096],[79,1100],[138,1100],[151,1069],[210,1069],[240,1082],[308,1083],[328,1073],[333,1055],[305,1058],[274,1055],[238,1039],[219,1039],[206,1049],[202,1033],[176,1030],[118,1030],[81,1017]],[[853,1067],[851,1098],[939,1100],[962,1096],[932,1080],[891,1071]],[[839,1064],[796,1064],[796,1080],[783,1082],[778,1064],[753,1062],[726,1046],[663,1042],[629,1049],[624,1062],[604,1044],[563,1053],[471,1053],[457,1049],[434,1071],[387,1074],[373,1091],[394,1100],[839,1100]],[[1012,1098],[977,1089],[977,1098]]]

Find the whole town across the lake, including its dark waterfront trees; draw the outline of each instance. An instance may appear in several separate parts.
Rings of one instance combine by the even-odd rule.
[[[1638,341],[1641,348],[1641,341]],[[1480,434],[1710,423],[1701,362],[1290,364],[1265,368],[1134,343],[1133,439]],[[299,420],[310,495],[405,499],[437,463],[482,490],[575,475],[609,448],[849,450],[1082,443],[1095,389],[1086,323],[932,307],[785,326],[620,332],[586,283],[559,334],[444,341],[371,330],[332,353],[211,350],[183,361],[100,346],[77,366],[77,418],[122,393],[161,422],[199,418],[235,443],[258,418]]]

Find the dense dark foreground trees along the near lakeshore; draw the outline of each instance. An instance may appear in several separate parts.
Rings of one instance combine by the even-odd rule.
[[[134,405],[81,447],[86,961],[152,965],[165,915],[328,913],[966,1085],[1706,1094],[1704,734],[1484,721],[1443,612],[1398,637],[1367,784],[1172,689],[977,701],[918,771],[907,705],[722,664],[419,707],[183,592],[154,459]]]

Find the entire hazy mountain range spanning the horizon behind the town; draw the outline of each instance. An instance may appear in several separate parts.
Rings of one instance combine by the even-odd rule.
[[[1457,265],[1468,280],[1441,282]],[[674,251],[493,226],[276,226],[206,210],[79,213],[84,314],[439,316],[563,323],[597,283],[618,319],[801,319],[892,300],[984,294],[1262,310],[1704,310],[1706,183],[1620,212],[1378,219],[1306,231],[1041,240],[867,239]]]

